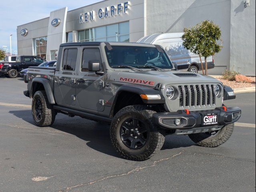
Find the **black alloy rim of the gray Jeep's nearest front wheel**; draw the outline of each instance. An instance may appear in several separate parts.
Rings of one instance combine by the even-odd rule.
[[[124,121],[120,128],[122,142],[130,149],[142,148],[149,138],[150,130],[136,118],[129,118]]]

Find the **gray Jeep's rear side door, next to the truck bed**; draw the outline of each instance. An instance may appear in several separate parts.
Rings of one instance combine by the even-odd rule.
[[[54,79],[54,95],[60,106],[76,104],[76,60],[78,49],[66,47],[62,52],[60,70],[56,71]]]

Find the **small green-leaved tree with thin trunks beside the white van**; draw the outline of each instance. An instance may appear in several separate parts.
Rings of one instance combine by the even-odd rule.
[[[191,28],[184,28],[183,31],[183,46],[199,55],[203,74],[202,57],[204,57],[205,74],[207,75],[207,57],[214,56],[223,47],[220,27],[213,21],[205,20]]]

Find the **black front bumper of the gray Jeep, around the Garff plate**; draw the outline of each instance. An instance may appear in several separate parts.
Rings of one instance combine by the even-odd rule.
[[[203,116],[206,114],[216,114],[217,123],[203,125]],[[230,123],[234,123],[239,120],[241,116],[241,109],[239,107],[230,107],[226,110],[222,107],[215,108],[213,110],[191,111],[187,114],[184,110],[177,112],[165,112],[153,114],[153,123],[156,126],[160,126],[169,130],[202,130],[204,128],[216,128],[223,127]],[[176,125],[175,119],[182,119],[183,124]],[[194,133],[194,132],[193,132]]]

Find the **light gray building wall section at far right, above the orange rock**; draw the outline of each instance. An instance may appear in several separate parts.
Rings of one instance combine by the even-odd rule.
[[[232,0],[230,24],[230,68],[255,76],[255,0]]]

